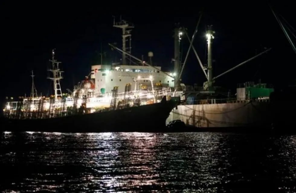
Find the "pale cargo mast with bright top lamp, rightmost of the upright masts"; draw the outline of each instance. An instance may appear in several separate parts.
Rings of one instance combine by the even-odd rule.
[[[212,25],[208,26],[207,30],[207,43],[208,43],[208,90],[214,90],[213,88],[213,67],[212,67],[212,39],[214,39],[213,34],[215,33],[212,29]]]

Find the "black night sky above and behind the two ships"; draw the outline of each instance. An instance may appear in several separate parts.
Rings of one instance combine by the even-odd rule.
[[[47,78],[47,65],[51,50],[56,49],[56,58],[65,71],[61,81],[62,90],[73,89],[73,83],[90,73],[91,65],[100,63],[101,45],[106,57],[104,64],[119,60],[121,55],[112,51],[108,43],[117,42],[121,48],[121,29],[112,27],[113,15],[134,23],[132,31],[132,54],[138,58],[154,53],[153,64],[166,71],[173,70],[173,29],[179,22],[188,28],[192,37],[203,10],[201,23],[194,46],[206,64],[207,25],[216,31],[213,43],[214,76],[259,53],[264,47],[272,47],[267,54],[217,79],[216,85],[235,88],[237,83],[258,81],[277,87],[295,79],[293,66],[296,54],[279,27],[267,3],[237,2],[229,4],[194,4],[172,2],[142,2],[139,5],[116,5],[116,2],[96,4],[69,3],[14,3],[3,4],[1,10],[1,98],[5,96],[30,95],[30,71],[34,70],[37,91],[47,95],[53,93]],[[16,5],[17,4],[17,5]],[[290,4],[272,3],[296,28],[295,13]],[[116,7],[117,6],[117,7]],[[293,36],[291,36],[293,37]],[[293,39],[294,40],[294,39]],[[294,41],[295,42],[295,41]],[[189,43],[182,40],[183,60]],[[182,76],[185,84],[202,86],[205,77],[193,51]]]

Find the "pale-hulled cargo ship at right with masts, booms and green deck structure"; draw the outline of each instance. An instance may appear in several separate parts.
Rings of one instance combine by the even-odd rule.
[[[202,87],[179,85],[186,100],[172,110],[167,119],[167,124],[181,120],[186,126],[190,126],[193,131],[242,131],[243,129],[250,130],[251,128],[254,131],[263,131],[263,128],[271,129],[272,107],[269,96],[274,91],[272,85],[261,83],[261,81],[258,84],[255,84],[253,81],[245,82],[237,87],[235,96],[231,96],[227,91],[224,92],[220,87],[214,85],[217,78],[259,57],[271,48],[263,50],[254,57],[214,77],[211,52],[215,32],[211,29],[212,26],[209,26],[206,31],[208,64],[204,66],[192,46],[198,24],[192,40],[186,34],[190,46],[182,68],[179,64],[175,65],[175,72],[180,72],[178,74],[180,80],[186,58],[192,48],[207,81],[204,82]],[[176,34],[187,33],[185,28],[176,28],[176,31],[175,36],[177,36]],[[179,46],[179,41],[180,38],[175,38],[175,46]],[[175,58],[179,58],[179,52],[175,53],[177,55]],[[175,80],[175,82],[177,81]],[[178,85],[175,86],[178,87]]]

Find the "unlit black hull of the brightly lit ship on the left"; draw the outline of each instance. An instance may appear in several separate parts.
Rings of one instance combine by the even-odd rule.
[[[4,131],[156,132],[165,129],[175,101],[51,119],[3,119]]]

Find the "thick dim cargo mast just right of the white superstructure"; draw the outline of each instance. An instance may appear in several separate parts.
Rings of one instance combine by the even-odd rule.
[[[180,41],[181,41],[182,31],[180,27],[175,27],[174,29],[174,85],[175,90],[180,89]]]

